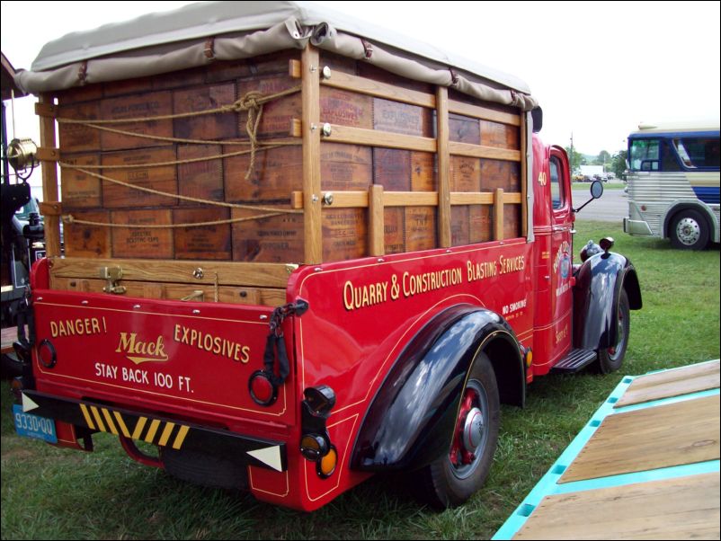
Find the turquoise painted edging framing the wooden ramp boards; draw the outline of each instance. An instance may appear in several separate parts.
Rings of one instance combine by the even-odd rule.
[[[711,362],[717,362],[718,359],[708,360],[697,364],[707,364]],[[687,365],[691,366],[691,365]],[[677,370],[680,368],[669,368],[671,370]],[[654,374],[657,372],[663,372],[665,370],[656,370],[649,372]],[[610,395],[601,404],[598,410],[593,413],[591,419],[583,426],[583,429],[579,431],[576,437],[571,441],[567,448],[560,457],[556,460],[553,466],[547,471],[547,473],[541,477],[539,483],[529,492],[529,495],[521,501],[519,505],[506,519],[503,526],[495,532],[494,537],[491,539],[511,539],[516,532],[525,524],[526,520],[530,517],[533,510],[538,507],[539,503],[543,498],[550,494],[561,494],[566,492],[580,492],[586,490],[592,490],[597,488],[608,488],[611,486],[619,486],[629,483],[643,483],[647,481],[663,480],[672,477],[681,477],[692,474],[705,474],[719,471],[719,461],[712,460],[708,462],[701,462],[697,464],[687,464],[682,466],[671,466],[666,468],[658,468],[654,470],[648,470],[645,472],[634,472],[632,474],[619,474],[612,475],[610,477],[601,477],[600,479],[590,479],[584,481],[578,481],[574,483],[563,483],[559,484],[558,480],[561,475],[564,474],[566,468],[574,461],[574,458],[578,456],[581,450],[591,439],[592,435],[601,426],[601,421],[608,415],[618,414],[622,412],[630,412],[634,410],[645,409],[649,407],[655,407],[663,404],[672,404],[676,402],[683,402],[693,398],[700,398],[702,396],[718,395],[719,389],[709,389],[706,391],[699,391],[697,393],[691,393],[689,395],[672,396],[670,398],[663,398],[661,400],[654,400],[653,402],[646,402],[643,404],[634,404],[618,409],[614,409],[614,405],[619,402],[621,396],[626,393],[628,386],[638,376],[626,376],[621,379],[619,385],[611,391]]]

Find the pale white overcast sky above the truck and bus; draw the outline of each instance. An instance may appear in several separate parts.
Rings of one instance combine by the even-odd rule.
[[[13,67],[89,30],[190,2],[2,2]],[[718,124],[719,2],[316,2],[520,77],[544,111],[541,137],[588,155],[626,147],[639,122]],[[17,137],[39,142],[34,98],[15,102]],[[27,103],[25,103],[27,102]],[[9,137],[13,125],[9,123]]]

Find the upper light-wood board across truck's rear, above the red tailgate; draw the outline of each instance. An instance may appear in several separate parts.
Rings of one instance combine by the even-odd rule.
[[[185,262],[125,259],[54,258],[51,274],[60,278],[92,279],[99,276],[101,267],[120,266],[123,279],[177,282],[186,284],[213,284],[218,274],[218,284],[224,286],[254,286],[257,288],[286,288],[288,277],[294,267],[283,263],[246,262]],[[195,271],[203,271],[202,278],[195,278]]]

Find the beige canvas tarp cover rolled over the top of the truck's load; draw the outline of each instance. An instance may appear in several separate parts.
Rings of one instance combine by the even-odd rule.
[[[253,58],[311,42],[410,79],[530,111],[528,86],[465,58],[309,2],[203,2],[49,42],[15,82],[29,93],[66,90]]]

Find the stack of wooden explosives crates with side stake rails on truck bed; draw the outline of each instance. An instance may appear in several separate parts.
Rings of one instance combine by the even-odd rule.
[[[62,200],[64,212],[74,217],[141,226],[237,220],[268,212],[218,208],[202,200],[302,210],[317,213],[317,218],[282,214],[174,229],[74,224],[66,228],[66,253],[315,263],[524,235],[524,136],[518,111],[326,52],[311,62],[321,69],[303,69],[302,62],[315,54],[312,48],[291,50],[90,84],[61,93],[58,115],[113,120],[194,113],[231,104],[250,92],[294,89],[305,78],[304,93],[263,106],[258,138],[283,146],[258,148],[252,167],[250,154],[228,155],[249,149],[237,145],[248,142],[245,111],[111,126],[165,139],[60,123],[60,153],[66,164],[100,164],[104,176],[193,198],[135,191],[64,167]],[[318,76],[324,66],[331,68],[328,79]],[[303,120],[307,111],[316,112]],[[311,144],[325,123],[331,133]],[[310,124],[315,127],[312,137]],[[315,153],[305,162],[304,146]],[[221,155],[226,156],[195,161]],[[145,167],[130,167],[138,164]],[[111,168],[115,165],[124,167]],[[494,203],[498,190],[503,195]],[[320,204],[313,207],[306,193],[313,193]],[[443,199],[441,193],[450,196]],[[333,197],[326,197],[330,194]],[[380,206],[377,212],[370,212],[371,200]],[[499,221],[503,226],[494,227]]]

